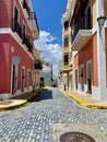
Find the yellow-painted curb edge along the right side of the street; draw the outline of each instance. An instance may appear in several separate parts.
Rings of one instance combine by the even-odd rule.
[[[68,97],[71,97],[73,100],[75,100],[79,105],[84,106],[84,107],[88,107],[88,108],[93,108],[93,109],[107,109],[107,105],[96,105],[96,104],[90,104],[86,103],[84,100],[82,100],[81,98],[74,96],[73,94],[63,91],[62,88],[59,88],[64,95],[67,95]]]

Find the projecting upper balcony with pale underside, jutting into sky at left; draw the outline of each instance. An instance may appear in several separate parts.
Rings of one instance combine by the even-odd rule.
[[[35,12],[28,12],[27,25],[31,29],[34,39],[39,37],[39,28]]]

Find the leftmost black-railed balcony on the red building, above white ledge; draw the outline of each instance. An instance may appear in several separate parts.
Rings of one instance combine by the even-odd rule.
[[[22,27],[19,24],[16,20],[13,19],[13,26],[12,26],[13,32],[16,32],[17,35],[22,38]]]

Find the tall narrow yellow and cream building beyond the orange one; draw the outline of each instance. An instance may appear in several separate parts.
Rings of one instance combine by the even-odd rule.
[[[62,68],[62,79],[63,88],[73,88],[73,58],[71,50],[71,0],[68,0],[66,12],[62,15],[62,47],[63,47],[63,68]]]

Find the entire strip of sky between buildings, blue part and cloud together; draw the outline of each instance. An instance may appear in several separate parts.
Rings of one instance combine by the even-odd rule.
[[[40,57],[52,63],[54,76],[62,58],[62,25],[61,17],[67,7],[67,0],[32,0],[33,10],[39,26],[39,39],[35,47],[41,50]]]

